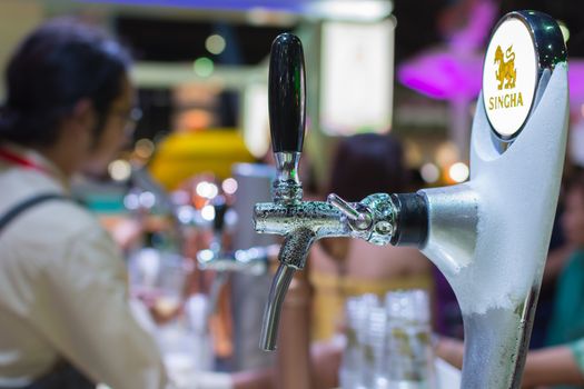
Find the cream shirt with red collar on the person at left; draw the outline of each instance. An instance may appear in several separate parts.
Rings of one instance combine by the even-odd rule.
[[[49,173],[0,160],[0,215],[68,191],[48,160],[18,151]],[[87,210],[49,200],[0,230],[0,386],[27,385],[61,356],[115,389],[166,385],[159,350],[131,313],[116,243]]]

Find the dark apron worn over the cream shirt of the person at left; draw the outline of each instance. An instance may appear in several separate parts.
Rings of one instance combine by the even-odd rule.
[[[11,208],[8,212],[0,217],[0,230],[14,219],[22,211],[47,200],[70,200],[69,198],[56,194],[46,193],[33,196],[19,202],[17,206]],[[21,389],[95,389],[96,385],[87,379],[82,372],[77,370],[72,365],[67,361],[61,361],[57,366],[42,377],[39,377],[34,382],[29,386],[21,387]],[[2,388],[0,389],[16,389],[16,388]]]

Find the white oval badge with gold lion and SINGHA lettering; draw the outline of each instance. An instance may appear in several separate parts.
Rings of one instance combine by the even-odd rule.
[[[537,54],[528,26],[504,20],[491,38],[483,67],[483,102],[493,129],[511,139],[525,123],[537,86]]]

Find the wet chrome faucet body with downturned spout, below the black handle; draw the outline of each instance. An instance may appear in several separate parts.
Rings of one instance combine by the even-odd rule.
[[[418,198],[422,200],[422,198]],[[357,226],[330,202],[295,201],[281,199],[258,203],[254,210],[256,231],[285,237],[278,260],[280,262],[270,288],[264,315],[261,347],[276,348],[281,303],[295,270],[304,269],[310,246],[321,238],[360,238],[373,243],[389,243],[396,228],[398,208],[388,194],[373,194],[363,202],[347,205],[352,209],[367,209],[368,225]],[[360,227],[360,228],[359,228]]]

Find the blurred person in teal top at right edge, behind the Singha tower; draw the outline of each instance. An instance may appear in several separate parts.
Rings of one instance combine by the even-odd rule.
[[[568,179],[562,227],[574,249],[557,280],[546,347],[527,353],[523,388],[584,387],[584,172]],[[462,367],[463,343],[441,339],[436,352]]]

